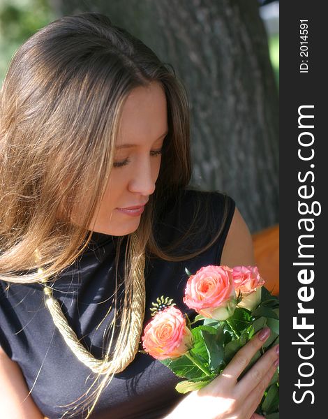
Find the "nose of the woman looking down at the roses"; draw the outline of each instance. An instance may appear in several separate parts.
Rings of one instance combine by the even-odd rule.
[[[155,168],[151,167],[150,161],[143,161],[138,165],[133,173],[133,178],[129,182],[129,190],[134,193],[140,193],[149,196],[154,193],[156,179],[158,173],[154,172]]]

